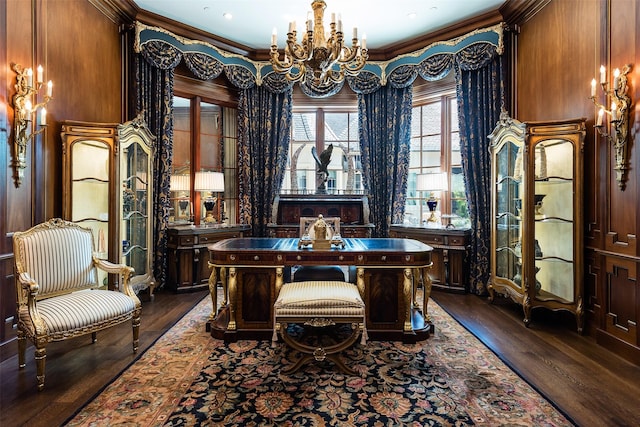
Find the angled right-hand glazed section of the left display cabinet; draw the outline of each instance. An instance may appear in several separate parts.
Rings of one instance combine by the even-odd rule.
[[[118,262],[133,267],[136,292],[153,298],[153,146],[155,137],[141,116],[118,126],[120,190]]]

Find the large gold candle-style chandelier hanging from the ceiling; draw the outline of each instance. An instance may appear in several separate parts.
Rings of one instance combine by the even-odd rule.
[[[296,23],[289,23],[287,44],[284,48],[284,59],[278,54],[276,30],[271,35],[271,65],[276,73],[284,74],[292,82],[309,82],[316,87],[344,80],[345,75],[355,76],[364,67],[367,54],[366,36],[362,37],[362,45],[358,42],[358,29],[353,29],[351,47],[343,43],[342,20],[331,14],[331,31],[325,35],[322,18],[326,3],[314,0],[311,3],[313,20],[307,17],[306,32],[301,43],[297,40]]]

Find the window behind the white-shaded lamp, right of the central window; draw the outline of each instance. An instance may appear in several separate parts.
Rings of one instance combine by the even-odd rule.
[[[419,89],[418,89],[419,90]],[[404,222],[424,223],[429,217],[429,194],[416,191],[417,176],[430,172],[447,175],[448,191],[435,193],[443,225],[469,226],[458,131],[458,108],[453,88],[414,97],[411,118],[411,154]]]

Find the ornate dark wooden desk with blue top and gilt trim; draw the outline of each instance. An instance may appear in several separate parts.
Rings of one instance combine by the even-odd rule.
[[[226,239],[209,246],[209,290],[214,311],[211,336],[225,341],[270,339],[273,304],[284,283],[285,269],[295,265],[355,266],[357,285],[364,290],[369,339],[407,343],[431,332],[425,286],[423,306],[415,299],[414,270],[431,267],[431,247],[412,239],[344,239],[345,247],[298,248],[294,238]],[[216,312],[218,274],[223,300]]]

